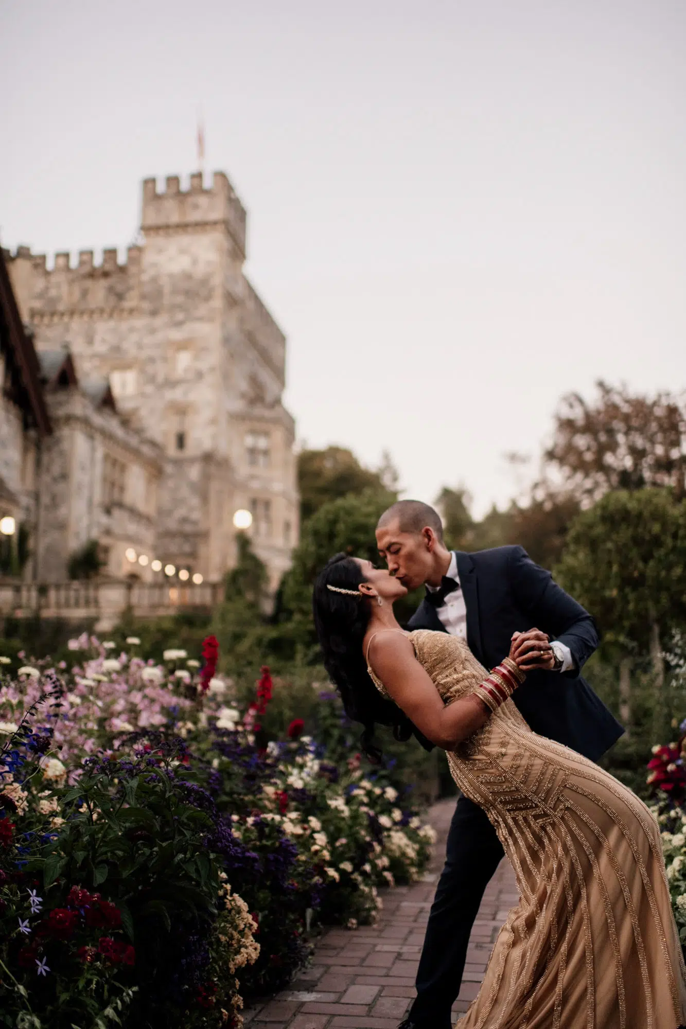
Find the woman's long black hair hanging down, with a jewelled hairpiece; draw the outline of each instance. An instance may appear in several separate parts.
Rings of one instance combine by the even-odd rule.
[[[410,739],[412,723],[397,704],[384,700],[367,671],[363,640],[371,616],[370,601],[328,589],[357,591],[364,581],[356,561],[346,554],[335,555],[314,583],[312,609],[324,668],[338,687],[345,713],[364,725],[363,750],[378,764],[381,751],[373,742],[375,723],[392,726],[395,738],[403,742]]]

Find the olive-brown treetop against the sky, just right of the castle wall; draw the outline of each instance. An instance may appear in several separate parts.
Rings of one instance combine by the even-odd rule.
[[[387,454],[383,456],[381,468],[372,471],[344,447],[301,451],[298,455],[301,522],[311,518],[322,504],[349,494],[359,494],[365,490],[384,493],[386,486],[391,484],[391,492],[395,492],[397,481],[398,472]]]

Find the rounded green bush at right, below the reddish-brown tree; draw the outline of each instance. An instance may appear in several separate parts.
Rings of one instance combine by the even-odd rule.
[[[560,583],[596,618],[606,644],[646,653],[651,632],[683,625],[686,502],[668,490],[617,490],[575,520]]]

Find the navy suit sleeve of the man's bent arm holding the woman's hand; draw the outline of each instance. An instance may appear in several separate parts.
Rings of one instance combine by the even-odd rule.
[[[517,607],[531,619],[522,630],[536,626],[568,646],[576,667],[562,674],[576,677],[599,642],[591,615],[557,586],[549,571],[535,564],[522,546],[513,547],[509,577]]]

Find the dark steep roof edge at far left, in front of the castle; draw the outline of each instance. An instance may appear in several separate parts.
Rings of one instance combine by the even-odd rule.
[[[33,341],[27,335],[12,292],[5,255],[0,248],[0,350],[7,363],[5,390],[24,412],[28,425],[41,435],[52,432],[40,385],[40,368]]]

